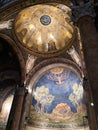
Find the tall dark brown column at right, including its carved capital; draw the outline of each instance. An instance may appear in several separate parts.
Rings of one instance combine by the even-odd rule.
[[[98,130],[98,33],[94,25],[95,16],[92,1],[82,6],[73,8],[83,46],[84,60],[87,77],[89,80],[87,89],[89,125],[91,130]]]

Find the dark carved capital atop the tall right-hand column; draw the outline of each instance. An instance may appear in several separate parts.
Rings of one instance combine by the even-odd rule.
[[[75,5],[72,6],[72,20],[74,22],[77,22],[79,18],[86,15],[95,17],[93,0],[89,0],[89,2],[82,3],[78,6],[75,6]]]

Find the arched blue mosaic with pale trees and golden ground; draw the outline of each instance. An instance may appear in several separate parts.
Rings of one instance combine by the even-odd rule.
[[[28,123],[58,130],[89,130],[86,98],[79,76],[63,67],[45,72],[33,88]]]

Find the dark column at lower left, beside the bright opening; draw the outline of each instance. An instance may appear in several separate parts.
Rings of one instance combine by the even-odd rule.
[[[12,109],[10,112],[6,130],[19,130],[22,109],[23,109],[22,107],[24,102],[24,95],[25,95],[24,87],[16,88]]]

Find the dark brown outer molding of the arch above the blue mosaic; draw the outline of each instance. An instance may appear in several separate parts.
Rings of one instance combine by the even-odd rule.
[[[31,85],[30,84],[30,81],[32,80],[32,75],[34,76],[37,71],[40,71],[41,68],[44,68],[46,66],[51,66],[50,68],[52,68],[52,64],[56,65],[56,64],[63,64],[65,65],[66,67],[67,66],[71,66],[71,69],[74,69],[75,73],[78,74],[79,77],[81,77],[82,79],[82,71],[81,69],[78,67],[78,65],[68,59],[65,59],[65,58],[52,58],[52,59],[48,59],[48,60],[45,60],[45,61],[42,61],[41,63],[39,63],[37,66],[35,66],[29,73],[28,73],[28,76],[27,76],[27,81],[26,81],[26,86],[28,85]],[[57,65],[56,65],[57,66]],[[48,68],[48,67],[47,67]],[[70,67],[69,67],[70,68]],[[41,72],[40,72],[41,73]],[[38,76],[38,75],[37,75]]]

